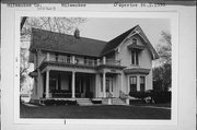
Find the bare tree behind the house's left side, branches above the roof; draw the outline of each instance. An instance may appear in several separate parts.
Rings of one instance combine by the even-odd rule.
[[[58,32],[63,34],[71,34],[78,28],[81,23],[84,23],[86,19],[83,17],[27,17],[23,16],[21,19],[21,45],[23,40],[28,40],[32,34],[32,27],[47,29],[51,32]],[[27,44],[27,43],[26,43]],[[20,86],[25,82],[26,75],[28,73],[28,46],[21,46],[20,51]]]

